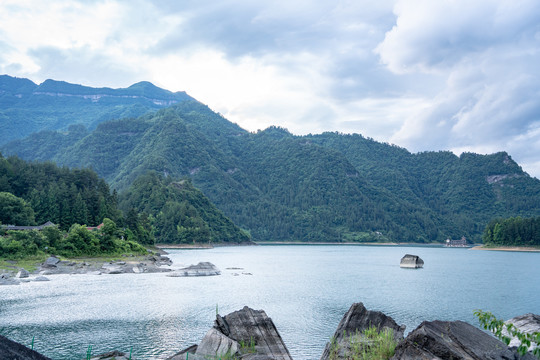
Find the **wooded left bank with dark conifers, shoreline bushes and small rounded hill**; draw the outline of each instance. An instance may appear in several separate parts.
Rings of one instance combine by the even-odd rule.
[[[189,180],[146,174],[124,192],[122,204],[125,212],[118,209],[116,191],[93,170],[0,154],[0,225],[57,225],[41,231],[4,227],[3,256],[45,249],[65,256],[141,252],[156,237],[164,243],[249,241]]]

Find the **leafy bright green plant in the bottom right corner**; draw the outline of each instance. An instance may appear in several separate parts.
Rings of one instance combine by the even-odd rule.
[[[491,331],[506,345],[510,344],[512,337],[516,337],[520,342],[517,348],[520,355],[525,355],[531,345],[536,345],[537,347],[532,351],[532,353],[534,356],[540,359],[540,332],[523,333],[519,331],[514,324],[506,324],[504,320],[498,319],[489,311],[476,310],[474,315],[478,317],[480,325],[482,325],[484,329]],[[510,336],[503,333],[505,330]]]

